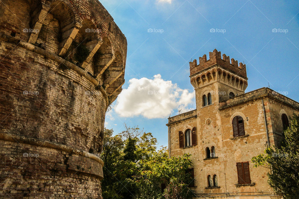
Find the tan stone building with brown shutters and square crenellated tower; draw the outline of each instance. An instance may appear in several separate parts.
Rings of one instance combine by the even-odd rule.
[[[169,156],[192,154],[198,198],[278,199],[251,158],[279,146],[299,103],[269,88],[245,93],[246,65],[216,49],[190,62],[196,109],[168,118]]]

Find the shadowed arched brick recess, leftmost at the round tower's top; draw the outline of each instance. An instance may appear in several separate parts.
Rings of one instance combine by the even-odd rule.
[[[26,0],[2,0],[0,5],[0,24],[4,27],[0,31],[6,35],[27,41],[31,31],[30,13],[32,4],[29,4]]]

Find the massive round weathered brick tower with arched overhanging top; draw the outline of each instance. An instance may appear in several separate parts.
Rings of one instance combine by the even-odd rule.
[[[102,198],[126,37],[98,0],[0,4],[0,197]]]

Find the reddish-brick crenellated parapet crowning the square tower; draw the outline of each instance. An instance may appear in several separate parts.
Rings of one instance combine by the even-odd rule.
[[[198,64],[196,59],[194,59],[193,62],[189,62],[190,76],[217,64],[220,67],[223,67],[224,69],[227,69],[231,72],[236,73],[239,76],[247,78],[245,64],[240,62],[238,65],[237,60],[235,60],[234,58],[230,59],[230,56],[226,56],[225,54],[223,54],[221,58],[221,52],[218,52],[216,49],[214,49],[213,52],[209,52],[209,56],[209,60],[206,60],[206,54],[204,54],[202,57],[199,57]]]

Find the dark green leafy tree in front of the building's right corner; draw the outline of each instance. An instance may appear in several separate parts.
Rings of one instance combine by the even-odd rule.
[[[265,154],[252,158],[255,167],[272,169],[268,183],[274,191],[286,199],[299,196],[299,116],[294,115],[290,127],[284,131],[282,146],[268,147]]]

